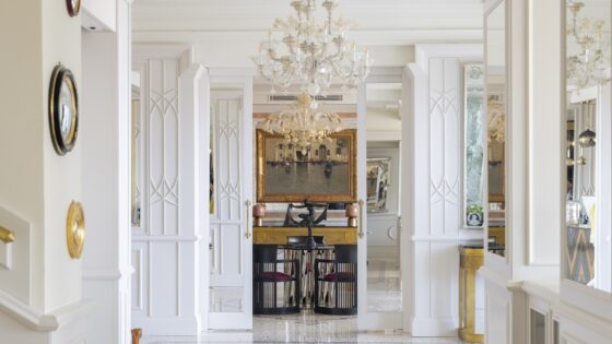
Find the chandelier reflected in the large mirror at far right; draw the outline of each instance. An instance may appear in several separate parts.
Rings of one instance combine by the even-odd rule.
[[[610,82],[610,41],[605,37],[605,21],[579,17],[582,2],[568,0],[572,21],[567,35],[578,47],[576,55],[567,58],[567,80],[578,90],[604,85]]]

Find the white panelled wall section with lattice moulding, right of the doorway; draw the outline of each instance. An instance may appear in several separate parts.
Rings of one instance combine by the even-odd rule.
[[[480,45],[416,46],[412,137],[404,157],[414,188],[402,213],[412,214],[411,328],[415,336],[455,335],[461,214],[462,63],[482,59]],[[412,152],[409,152],[412,151]],[[408,209],[405,209],[408,206]],[[412,207],[412,209],[410,209]]]

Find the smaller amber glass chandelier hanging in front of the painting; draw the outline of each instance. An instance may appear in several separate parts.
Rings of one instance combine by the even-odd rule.
[[[289,112],[276,112],[263,120],[259,128],[283,135],[286,142],[309,146],[342,130],[338,114],[317,111],[317,103],[307,93],[297,97]]]

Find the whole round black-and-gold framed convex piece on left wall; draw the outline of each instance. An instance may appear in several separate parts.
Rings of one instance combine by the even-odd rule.
[[[49,86],[49,129],[59,155],[72,151],[79,128],[79,96],[72,72],[56,66]]]

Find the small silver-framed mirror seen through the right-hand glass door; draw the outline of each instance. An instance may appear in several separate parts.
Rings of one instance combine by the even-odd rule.
[[[390,186],[391,158],[367,159],[367,212],[387,212],[387,191]]]

